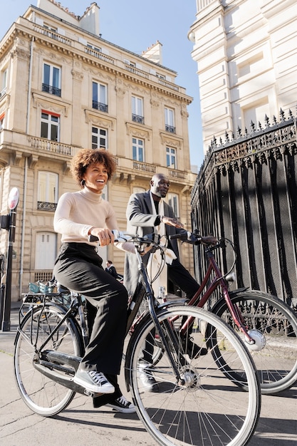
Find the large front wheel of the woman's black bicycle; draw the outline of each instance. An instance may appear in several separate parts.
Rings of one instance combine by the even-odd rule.
[[[220,331],[232,346],[229,361],[243,368],[249,390],[244,392],[232,385],[219,369],[211,352],[198,358],[184,353],[176,330],[184,317],[195,318],[190,329],[191,337],[200,347],[207,345],[204,326]],[[244,446],[254,433],[261,409],[261,392],[254,363],[237,334],[220,318],[202,308],[170,306],[157,310],[165,338],[175,364],[184,379],[177,383],[167,351],[160,361],[150,365],[150,371],[158,383],[158,391],[152,393],[142,385],[143,346],[152,332],[154,323],[144,318],[127,346],[125,375],[132,390],[137,415],[150,435],[160,445]],[[176,318],[174,329],[165,326]],[[162,341],[160,341],[162,342]],[[178,347],[177,347],[178,346]]]

